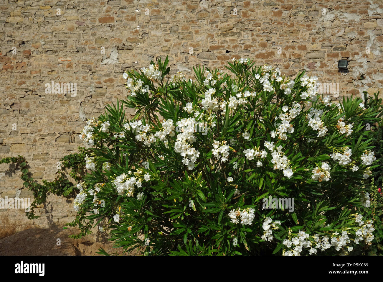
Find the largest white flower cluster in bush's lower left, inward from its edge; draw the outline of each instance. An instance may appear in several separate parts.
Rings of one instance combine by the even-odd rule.
[[[125,191],[128,191],[126,195],[128,197],[132,197],[135,189],[134,185],[139,188],[142,187],[142,181],[150,180],[149,173],[144,174],[142,170],[137,170],[137,172],[134,173],[136,177],[131,176],[131,174],[132,172],[129,172],[128,175],[123,173],[113,180],[113,184],[117,189],[118,195],[123,195]]]

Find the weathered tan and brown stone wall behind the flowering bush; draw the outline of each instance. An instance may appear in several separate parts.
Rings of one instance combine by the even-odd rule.
[[[245,57],[339,83],[340,97],[376,92],[382,13],[379,0],[0,0],[0,157],[23,155],[34,178],[52,180],[59,158],[81,145],[84,120],[125,96],[124,69],[166,55],[173,72]],[[341,58],[350,60],[346,76]],[[51,81],[76,83],[77,95],[46,94]],[[31,196],[19,171],[4,175],[8,167],[0,166],[1,196]],[[33,223],[20,210],[5,212]],[[74,215],[57,196],[39,212],[42,226]]]

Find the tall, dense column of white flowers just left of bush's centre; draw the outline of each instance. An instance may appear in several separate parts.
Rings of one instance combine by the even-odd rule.
[[[187,165],[189,170],[192,170],[195,167],[197,158],[200,156],[200,152],[187,142],[193,143],[196,141],[194,136],[196,120],[194,118],[182,119],[178,120],[176,125],[181,127],[183,132],[177,135],[174,151],[181,154],[183,157],[182,163]]]

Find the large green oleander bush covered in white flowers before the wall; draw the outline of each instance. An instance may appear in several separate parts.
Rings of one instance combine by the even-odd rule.
[[[124,73],[127,99],[80,134],[92,148],[74,200],[81,234],[95,224],[150,255],[332,255],[371,244],[358,185],[376,167],[364,128],[375,108],[337,104],[317,94],[316,77],[247,59],[228,73],[193,68],[194,79],[170,76],[168,62]]]

